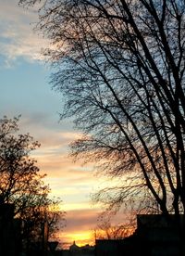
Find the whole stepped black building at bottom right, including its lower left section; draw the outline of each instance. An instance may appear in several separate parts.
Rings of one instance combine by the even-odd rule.
[[[120,240],[96,240],[96,256],[184,256],[184,215],[137,215],[134,235]],[[185,232],[185,231],[183,231]]]

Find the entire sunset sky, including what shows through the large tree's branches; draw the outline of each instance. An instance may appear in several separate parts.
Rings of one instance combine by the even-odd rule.
[[[59,223],[58,248],[68,249],[74,241],[79,246],[94,245],[95,238],[124,238],[133,233],[138,242],[142,233],[137,214],[164,214],[167,228],[180,221],[178,235],[183,235],[184,39],[180,34],[184,27],[180,26],[185,21],[184,6],[179,1],[174,5],[164,1],[160,6],[160,1],[83,5],[83,1],[36,0],[23,8],[19,1],[0,0],[0,120],[18,117],[19,134],[29,133],[41,144],[31,152],[31,163],[39,168],[45,187],[51,188],[49,197],[59,198],[59,210],[66,213],[65,224]],[[35,29],[39,6],[37,28],[55,38],[53,45]],[[53,63],[42,55],[43,49],[48,49]],[[68,96],[66,105],[60,90]],[[75,127],[74,116],[60,119],[63,108],[67,116],[77,114],[76,124],[85,134]],[[69,145],[74,141],[77,161],[70,156]],[[10,174],[17,160],[12,158],[15,148],[1,147]],[[86,161],[81,159],[83,153]],[[10,175],[10,182],[14,176]],[[2,185],[7,187],[4,181]],[[25,201],[30,193],[37,199],[38,190],[26,187],[21,198]],[[2,201],[9,203],[6,194]],[[95,204],[93,198],[106,205]],[[16,212],[17,218],[22,216]],[[170,223],[173,213],[177,222]],[[150,227],[147,220],[144,217],[143,228]],[[45,214],[43,224],[45,237]],[[97,230],[98,224],[105,232]]]

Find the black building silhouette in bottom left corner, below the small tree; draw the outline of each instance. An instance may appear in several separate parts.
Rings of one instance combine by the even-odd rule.
[[[14,205],[0,203],[0,256],[62,256],[56,250],[58,242],[48,242],[48,226],[43,225],[41,240],[26,246],[22,235],[22,221],[14,218]]]

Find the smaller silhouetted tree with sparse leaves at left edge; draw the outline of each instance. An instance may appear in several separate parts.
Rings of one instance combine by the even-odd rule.
[[[29,249],[32,242],[42,241],[45,225],[48,238],[56,234],[64,211],[59,211],[61,200],[48,197],[45,175],[39,173],[30,156],[39,143],[30,134],[18,132],[19,118],[0,120],[0,197],[1,203],[14,204],[14,215],[23,221],[22,237]]]

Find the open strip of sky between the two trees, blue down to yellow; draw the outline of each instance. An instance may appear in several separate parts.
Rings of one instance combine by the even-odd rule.
[[[60,234],[63,244],[93,243],[100,208],[91,202],[97,176],[93,166],[69,158],[68,144],[80,136],[69,120],[59,122],[63,98],[49,84],[51,70],[41,48],[48,45],[33,23],[37,14],[18,6],[19,0],[0,0],[0,118],[21,115],[20,132],[30,133],[41,143],[33,157],[52,196],[63,200],[67,225]]]

